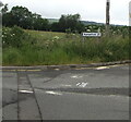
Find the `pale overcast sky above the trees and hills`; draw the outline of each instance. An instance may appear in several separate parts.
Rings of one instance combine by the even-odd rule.
[[[131,0],[110,0],[110,23],[129,25],[129,2]],[[105,23],[106,0],[2,0],[11,9],[26,7],[33,13],[47,19],[59,19],[61,14],[80,13],[83,21]]]

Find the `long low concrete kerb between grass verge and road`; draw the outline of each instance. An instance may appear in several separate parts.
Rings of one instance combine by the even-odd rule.
[[[72,70],[82,68],[97,68],[97,66],[108,66],[117,64],[130,64],[131,60],[116,61],[116,62],[103,62],[103,63],[91,63],[91,64],[64,64],[64,65],[36,65],[36,66],[1,66],[1,70]]]

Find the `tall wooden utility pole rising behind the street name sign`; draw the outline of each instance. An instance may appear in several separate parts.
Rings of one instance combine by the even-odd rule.
[[[106,2],[106,36],[109,36],[109,21],[110,21],[109,9],[110,9],[110,0],[107,0]]]

